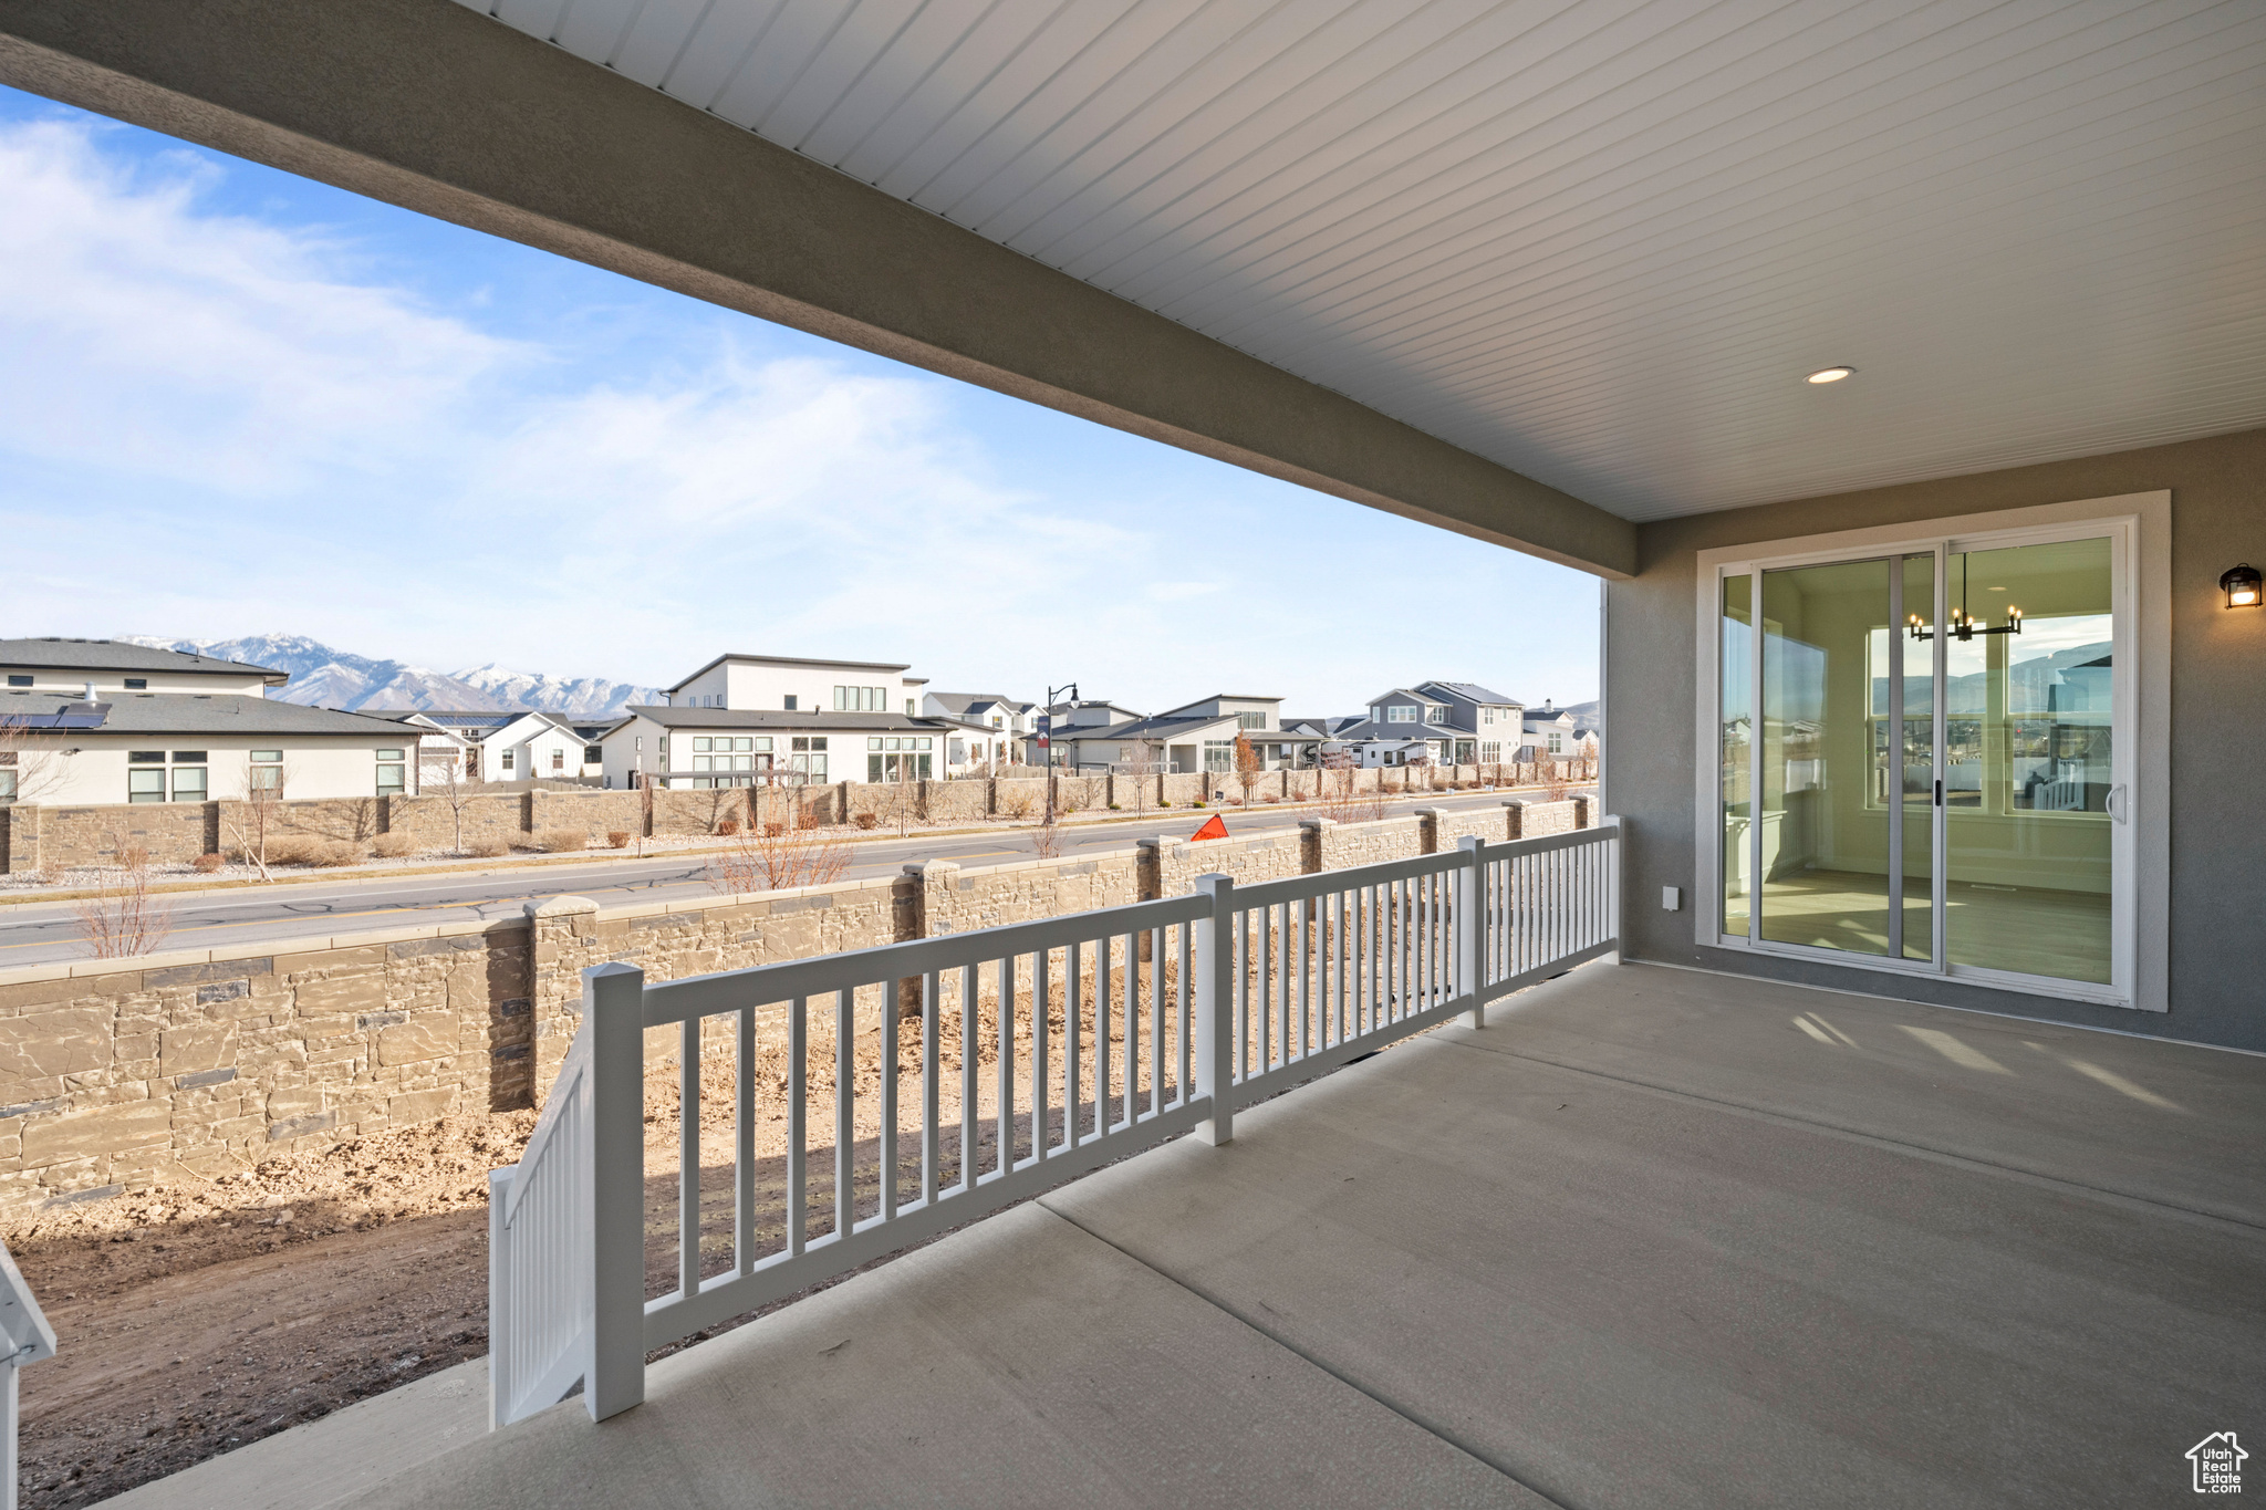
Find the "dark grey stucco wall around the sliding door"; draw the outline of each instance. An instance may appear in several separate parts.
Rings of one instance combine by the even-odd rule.
[[[1831,530],[1899,525],[2085,498],[2171,491],[2171,883],[2169,1012],[2130,1012],[1971,983],[1763,958],[1693,942],[1661,887],[1711,883],[1693,849],[1697,552]],[[2266,611],[2227,611],[2218,573],[2266,557],[2266,430],[2076,462],[1804,498],[1650,523],[1638,575],[1607,589],[1604,795],[1627,824],[1629,953],[1956,1007],[2044,1016],[2239,1048],[2266,1048],[2252,940],[2266,883],[2248,835],[2266,826]],[[2241,835],[2241,838],[2237,838]]]

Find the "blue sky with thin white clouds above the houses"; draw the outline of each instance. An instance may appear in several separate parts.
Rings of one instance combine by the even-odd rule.
[[[1582,573],[5,88],[0,204],[0,634],[1595,695]]]

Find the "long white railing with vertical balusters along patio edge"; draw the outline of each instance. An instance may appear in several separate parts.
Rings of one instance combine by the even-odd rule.
[[[1237,1105],[1457,1012],[1477,1026],[1616,949],[1618,847],[1607,820],[662,985],[585,971],[557,1089],[492,1175],[492,1424],[576,1381],[594,1419],[628,1410],[657,1347],[1181,1132],[1226,1143]],[[678,1059],[657,1175],[648,1030]]]

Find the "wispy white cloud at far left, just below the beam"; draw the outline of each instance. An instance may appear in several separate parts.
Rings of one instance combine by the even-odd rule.
[[[0,127],[0,444],[274,494],[383,464],[514,355],[338,276],[320,235],[199,211],[213,174],[138,172],[86,125]]]

